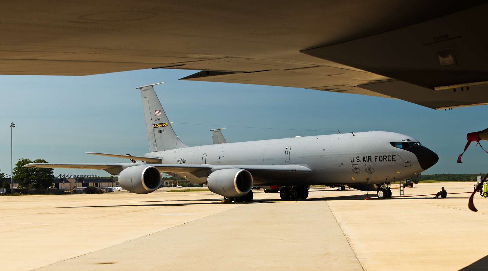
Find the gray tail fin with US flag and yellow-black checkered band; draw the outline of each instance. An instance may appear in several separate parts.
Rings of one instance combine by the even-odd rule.
[[[163,106],[161,106],[153,87],[157,84],[161,83],[138,87],[141,89],[149,152],[187,147],[176,136],[168,117],[164,113]]]

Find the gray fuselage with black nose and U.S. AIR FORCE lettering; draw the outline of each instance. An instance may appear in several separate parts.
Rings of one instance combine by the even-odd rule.
[[[400,147],[394,144],[400,144]],[[290,180],[266,179],[254,180],[256,186],[383,184],[418,174],[438,159],[435,153],[421,146],[417,140],[383,131],[184,147],[149,152],[145,156],[161,158],[163,164],[289,164],[305,166],[314,172],[298,184]],[[432,163],[433,160],[435,162]],[[183,177],[194,183],[206,181],[206,178],[191,175]]]

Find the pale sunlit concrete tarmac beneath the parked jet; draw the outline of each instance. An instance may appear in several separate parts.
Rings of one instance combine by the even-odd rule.
[[[432,183],[406,195],[469,192]],[[393,194],[398,189],[392,186]],[[262,191],[262,190],[261,190]],[[488,200],[377,200],[311,188],[305,201],[255,191],[0,197],[2,270],[459,270],[488,268]],[[487,257],[488,258],[488,257]]]

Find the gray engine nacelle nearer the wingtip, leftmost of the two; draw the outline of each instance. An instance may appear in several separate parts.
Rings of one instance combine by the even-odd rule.
[[[151,166],[127,167],[119,174],[119,184],[132,193],[151,193],[161,185],[161,172]]]

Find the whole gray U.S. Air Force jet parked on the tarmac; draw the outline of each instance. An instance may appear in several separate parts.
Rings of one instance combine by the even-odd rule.
[[[189,147],[173,131],[154,91],[157,84],[138,87],[149,146],[143,157],[87,152],[132,163],[31,163],[24,167],[103,169],[119,175],[123,189],[138,194],[158,189],[164,172],[206,184],[226,202],[250,202],[253,186],[282,186],[282,199],[306,199],[309,185],[322,184],[376,190],[378,198],[384,199],[391,197],[390,182],[418,179],[439,159],[412,137],[384,131]]]

